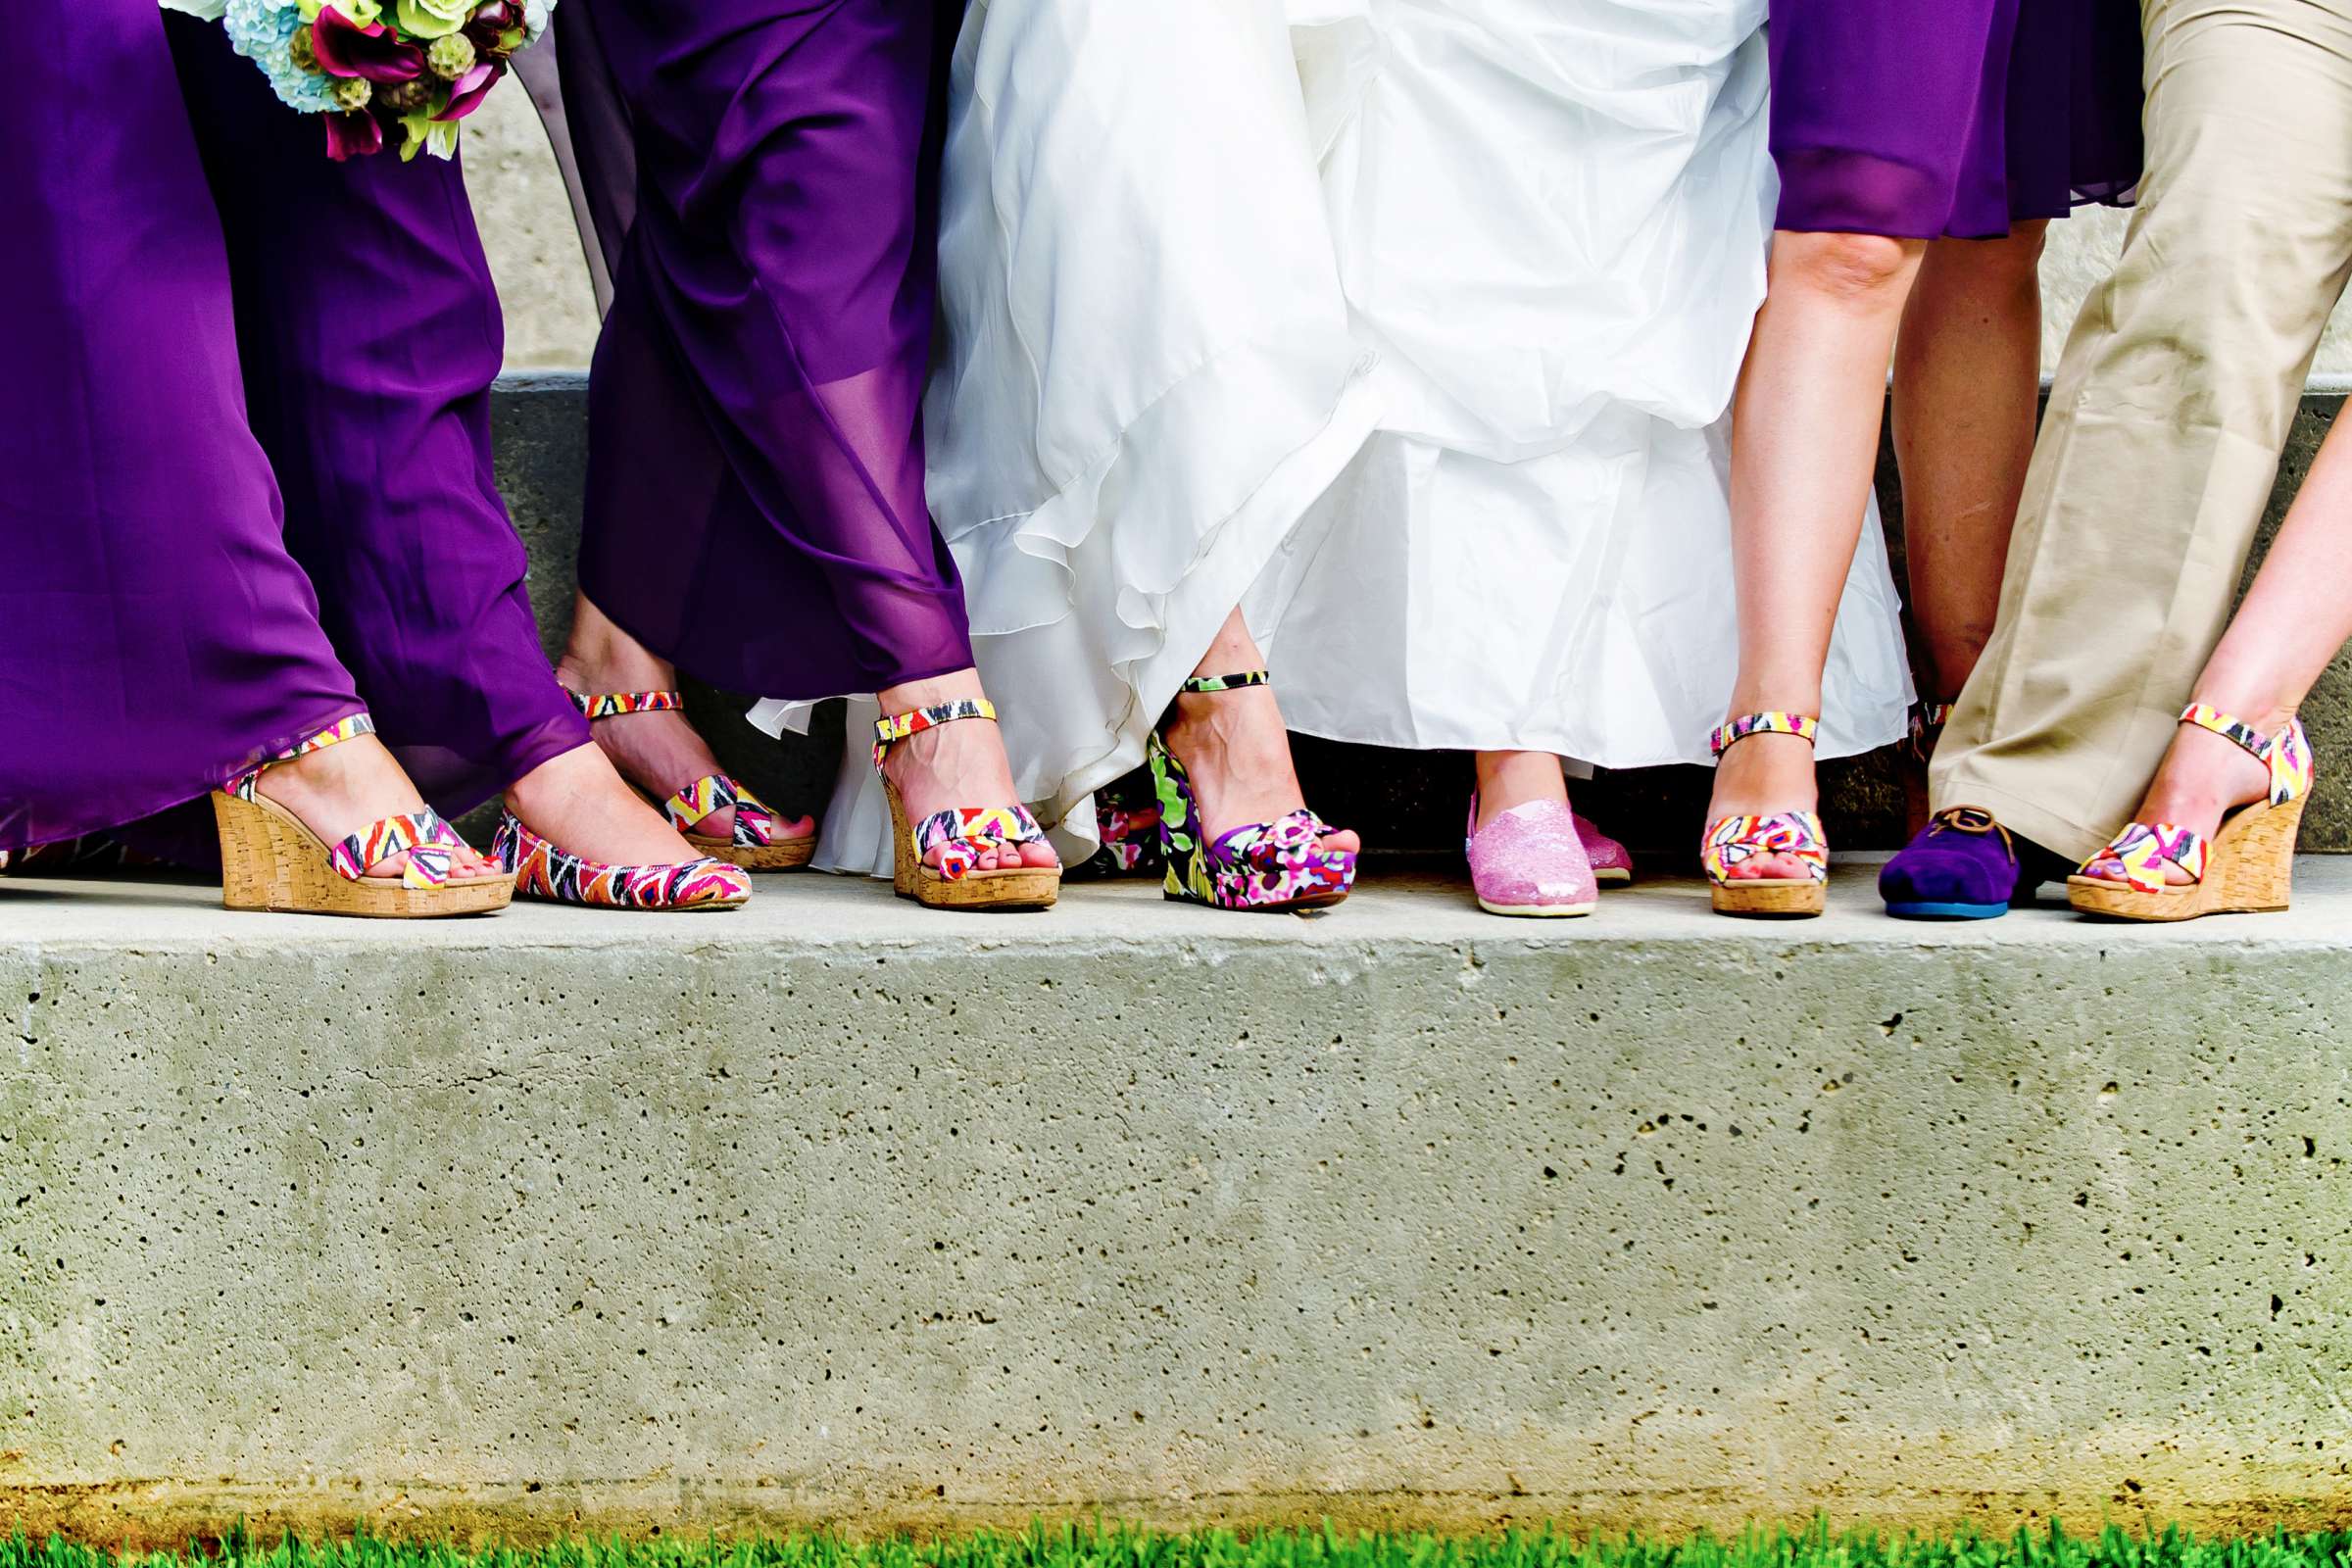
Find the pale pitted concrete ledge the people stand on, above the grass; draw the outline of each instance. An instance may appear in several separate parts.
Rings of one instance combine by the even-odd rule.
[[[0,1519],[2352,1521],[2296,914],[0,884]]]

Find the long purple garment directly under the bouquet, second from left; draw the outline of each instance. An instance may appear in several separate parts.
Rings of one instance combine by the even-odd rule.
[[[219,26],[169,19],[287,548],[376,733],[445,816],[588,743],[492,477],[506,324],[456,162],[329,162]]]

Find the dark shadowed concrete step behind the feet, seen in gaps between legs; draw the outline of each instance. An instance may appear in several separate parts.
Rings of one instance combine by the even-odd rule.
[[[2312,454],[2336,421],[2343,393],[2312,393],[2296,421],[2263,541],[2277,531],[2286,503],[2310,470]],[[517,378],[496,402],[499,482],[532,550],[532,597],[548,649],[572,623],[572,576],[579,555],[581,475],[586,468],[586,393],[576,376]],[[1893,454],[1882,456],[1879,498],[1903,559],[1903,494]],[[2260,557],[2256,557],[2260,559]],[[691,689],[694,719],[720,757],[767,799],[790,811],[823,809],[840,757],[840,726],[814,741],[776,743],[743,722],[741,698]],[[2305,708],[2321,759],[2352,757],[2352,663],[2336,668]],[[1458,844],[1461,802],[1470,790],[1468,762],[1451,752],[1371,752],[1352,745],[1298,741],[1308,799],[1336,823],[1364,832],[1378,849],[1439,851]],[[1903,795],[1896,757],[1877,755],[1823,769],[1825,818],[1835,844],[1893,849],[1903,844]],[[1611,832],[1646,853],[1693,858],[1708,809],[1705,769],[1646,769],[1581,785],[1578,804]],[[487,837],[487,827],[482,830]],[[2303,844],[2314,851],[2352,849],[2352,769],[2319,769],[2319,792],[2305,813]]]

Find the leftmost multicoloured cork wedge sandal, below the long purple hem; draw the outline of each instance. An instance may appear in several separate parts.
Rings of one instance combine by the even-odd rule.
[[[212,792],[221,835],[221,903],[230,910],[289,914],[360,914],[369,919],[435,919],[494,914],[515,896],[513,877],[456,877],[466,839],[430,806],[369,823],[341,844],[261,792],[261,776],[282,762],[376,733],[355,712],[334,729],[268,757]],[[393,856],[407,856],[400,877],[369,877]]]

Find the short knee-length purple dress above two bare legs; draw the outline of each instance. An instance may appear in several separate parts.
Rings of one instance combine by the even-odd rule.
[[[1985,240],[2140,179],[2136,0],[1773,0],[1776,228]]]

